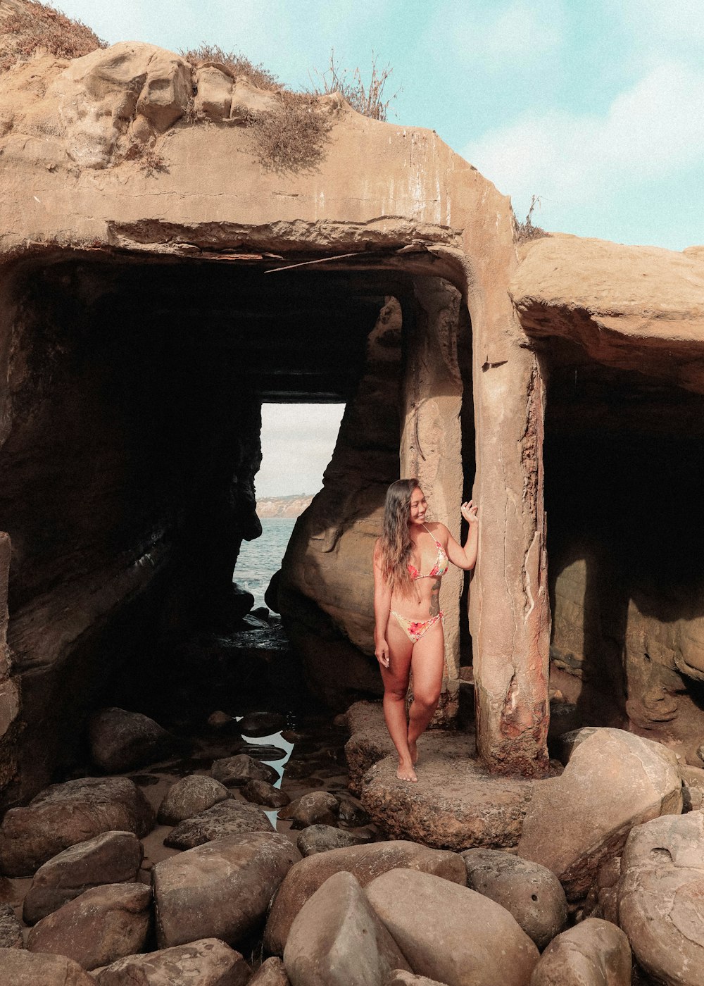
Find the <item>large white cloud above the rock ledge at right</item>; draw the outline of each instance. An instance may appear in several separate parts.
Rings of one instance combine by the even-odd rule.
[[[559,211],[704,165],[702,106],[704,72],[661,64],[602,115],[531,111],[462,154],[519,202],[537,194]]]

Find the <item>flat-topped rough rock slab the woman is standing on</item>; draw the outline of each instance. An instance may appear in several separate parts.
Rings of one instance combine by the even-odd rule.
[[[418,748],[420,783],[398,780],[396,755],[364,776],[362,805],[382,831],[458,851],[516,845],[537,782],[490,774],[468,734],[433,731]]]

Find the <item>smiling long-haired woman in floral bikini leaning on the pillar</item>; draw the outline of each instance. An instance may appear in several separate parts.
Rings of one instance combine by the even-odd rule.
[[[398,752],[396,777],[416,782],[416,742],[440,700],[445,662],[440,585],[451,561],[474,568],[477,508],[461,505],[469,525],[460,547],[444,524],[429,522],[417,479],[399,479],[387,490],[384,528],[374,549],[374,647],[384,680],[384,717]],[[406,692],[413,669],[413,702],[406,721]]]

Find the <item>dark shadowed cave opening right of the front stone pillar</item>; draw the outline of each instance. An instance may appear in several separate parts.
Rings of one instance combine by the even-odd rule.
[[[551,340],[544,469],[556,733],[630,729],[701,765],[704,396]]]

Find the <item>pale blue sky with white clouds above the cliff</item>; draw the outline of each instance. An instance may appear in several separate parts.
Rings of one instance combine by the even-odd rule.
[[[397,92],[389,122],[436,130],[511,195],[520,219],[536,196],[532,222],[546,230],[675,250],[704,243],[704,0],[56,5],[110,43],[241,51],[293,89],[310,88],[333,50],[341,69],[366,78],[376,54],[392,69],[387,96]],[[315,429],[327,443],[317,489],[333,422],[318,410],[306,425],[289,407],[287,427],[297,416],[301,438]],[[264,468],[257,491],[278,495],[261,492]],[[287,492],[315,490],[295,482]]]

